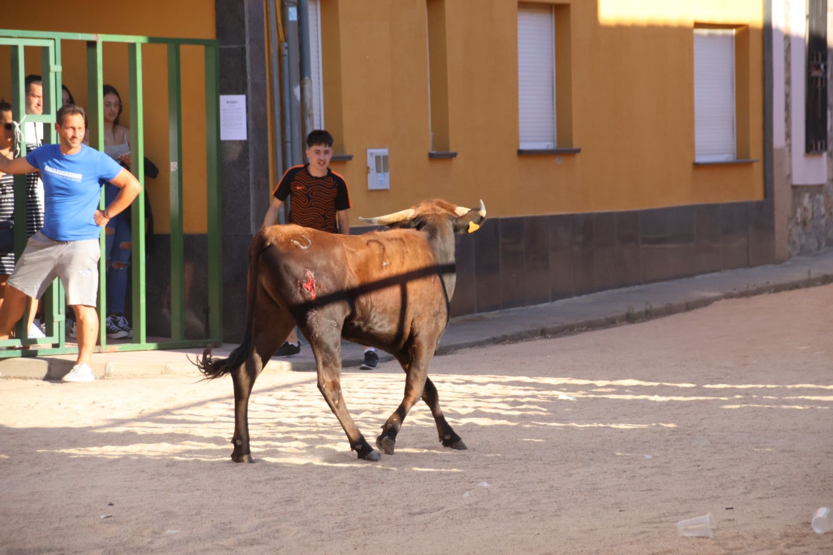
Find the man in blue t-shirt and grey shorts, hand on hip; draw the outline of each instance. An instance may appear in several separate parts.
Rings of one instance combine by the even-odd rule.
[[[2,173],[40,171],[44,191],[44,224],[29,238],[6,282],[0,307],[0,339],[8,339],[26,308],[27,295],[40,297],[55,277],[67,291],[67,304],[76,316],[78,357],[65,382],[95,379],[89,361],[98,335],[99,237],[110,218],[130,206],[142,190],[132,174],[110,156],[82,144],[84,111],[67,104],[57,111],[58,145],[44,145],[25,158],[0,156]],[[116,198],[98,210],[105,181],[119,187]]]

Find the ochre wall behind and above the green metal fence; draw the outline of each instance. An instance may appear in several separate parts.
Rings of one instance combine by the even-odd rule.
[[[105,2],[85,0],[77,5],[55,0],[34,4],[7,2],[0,27],[32,31],[97,32],[151,37],[216,37],[213,0],[144,0]],[[142,46],[144,77],[145,156],[159,168],[157,179],[147,179],[155,230],[170,230],[167,113],[167,50],[165,45]],[[25,49],[26,72],[41,73],[39,49]],[[0,97],[11,99],[9,50],[0,47]],[[120,122],[131,126],[127,45],[105,42],[104,82],[116,87],[124,107]],[[182,180],[183,225],[186,233],[207,230],[205,71],[202,47],[182,47]],[[86,43],[62,41],[62,80],[78,105],[87,107]],[[134,162],[135,163],[135,162]]]

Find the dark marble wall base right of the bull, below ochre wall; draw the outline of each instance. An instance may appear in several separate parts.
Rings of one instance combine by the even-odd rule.
[[[454,316],[776,261],[772,201],[491,218],[457,240]]]

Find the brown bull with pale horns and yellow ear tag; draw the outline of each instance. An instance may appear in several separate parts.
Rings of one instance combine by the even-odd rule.
[[[393,454],[397,433],[420,398],[431,408],[440,441],[465,449],[440,410],[428,365],[448,324],[456,281],[454,234],[474,230],[479,210],[425,201],[405,211],[368,218],[392,229],[333,235],[298,225],[257,232],[249,249],[246,333],[227,359],[206,349],[197,366],[207,378],[232,374],[232,460],[251,462],[247,411],[252,386],[297,325],[315,354],[318,389],[359,458],[377,461],[353,423],[342,396],[342,337],[393,354],[407,374],[402,404],[382,426],[377,447]]]

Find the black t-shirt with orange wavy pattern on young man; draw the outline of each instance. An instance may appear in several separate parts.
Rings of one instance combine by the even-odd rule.
[[[347,181],[327,168],[327,175],[315,177],[307,165],[292,166],[287,170],[273,193],[278,201],[289,204],[289,223],[316,230],[338,232],[336,212],[351,207]]]

